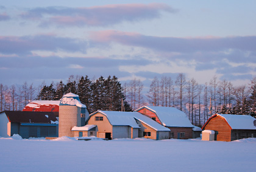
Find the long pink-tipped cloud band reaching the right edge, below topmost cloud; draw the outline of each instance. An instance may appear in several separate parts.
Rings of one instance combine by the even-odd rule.
[[[146,36],[139,33],[104,30],[91,32],[91,38],[99,43],[115,42],[163,52],[218,52],[229,49],[255,51],[256,36],[233,36],[225,38],[175,38]]]

